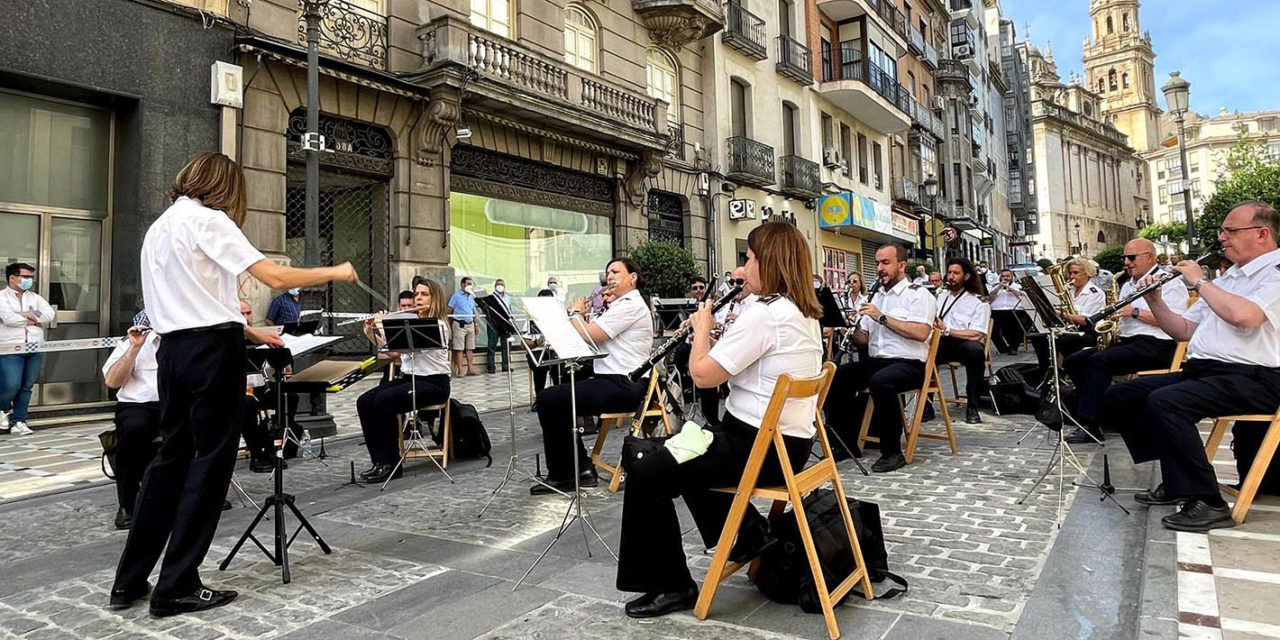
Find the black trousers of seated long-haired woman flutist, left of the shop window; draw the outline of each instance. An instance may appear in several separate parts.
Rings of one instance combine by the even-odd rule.
[[[413,387],[417,388],[417,406],[413,404]],[[399,462],[399,422],[397,417],[419,407],[440,404],[449,399],[449,376],[406,375],[379,384],[356,398],[360,430],[365,434],[365,447],[374,465]]]

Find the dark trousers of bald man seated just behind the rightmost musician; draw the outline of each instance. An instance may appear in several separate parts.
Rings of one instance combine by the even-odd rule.
[[[1075,384],[1079,398],[1075,416],[1097,422],[1102,413],[1102,394],[1111,387],[1111,378],[1149,369],[1169,369],[1178,343],[1151,335],[1120,338],[1106,349],[1082,349],[1071,353],[1062,367]]]

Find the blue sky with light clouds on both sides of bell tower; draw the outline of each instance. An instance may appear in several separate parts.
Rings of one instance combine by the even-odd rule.
[[[1066,81],[1084,76],[1082,44],[1089,36],[1089,0],[1000,0],[1018,38],[1044,51]],[[1192,109],[1202,115],[1280,109],[1280,0],[1146,0],[1140,28],[1156,52],[1156,92],[1169,72],[1192,83]],[[1165,96],[1157,95],[1161,109]]]

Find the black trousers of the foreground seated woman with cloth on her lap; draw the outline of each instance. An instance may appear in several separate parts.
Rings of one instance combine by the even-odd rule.
[[[685,498],[703,544],[714,547],[724,529],[733,495],[712,489],[737,485],[759,433],[758,426],[742,422],[731,413],[724,415],[721,426],[709,430],[716,435],[707,453],[677,465],[664,448],[657,456],[636,461],[627,474],[618,543],[618,590],[668,593],[694,586],[685,562],[676,498]],[[794,436],[783,436],[783,440],[791,470],[800,471],[809,458],[813,440]],[[771,449],[756,484],[777,485],[782,481],[777,452]],[[763,517],[748,506],[742,524]]]

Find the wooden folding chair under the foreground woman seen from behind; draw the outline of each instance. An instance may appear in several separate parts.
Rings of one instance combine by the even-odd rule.
[[[746,467],[742,470],[742,479],[736,488],[717,489],[732,493],[733,504],[730,507],[724,529],[721,530],[719,543],[717,543],[716,554],[712,557],[712,566],[707,571],[707,580],[703,581],[703,589],[698,594],[698,605],[694,608],[694,616],[698,616],[698,620],[707,620],[707,614],[712,608],[712,600],[716,599],[716,590],[721,582],[745,566],[741,562],[730,563],[728,554],[733,548],[733,540],[737,538],[737,530],[742,525],[742,516],[746,513],[746,508],[750,506],[753,498],[772,499],[773,507],[771,513],[781,513],[787,502],[791,503],[796,525],[800,529],[800,539],[804,543],[805,556],[809,558],[809,571],[813,572],[818,599],[822,602],[822,616],[827,621],[827,634],[831,635],[832,640],[840,637],[840,627],[836,623],[836,612],[833,608],[835,603],[840,602],[841,598],[859,584],[861,584],[863,595],[868,600],[874,598],[872,581],[867,575],[867,563],[863,559],[863,548],[858,543],[858,534],[854,531],[854,520],[849,513],[845,489],[840,481],[840,472],[836,470],[836,458],[831,453],[831,444],[827,442],[827,429],[822,420],[822,403],[827,398],[827,390],[831,389],[831,379],[835,372],[836,365],[827,362],[822,366],[822,374],[815,378],[791,378],[790,374],[782,374],[778,378],[778,383],[773,388],[773,397],[769,398],[769,404],[764,412],[764,421],[760,424],[759,433],[755,434],[751,454],[746,461]],[[787,463],[790,458],[787,457],[782,431],[778,430],[778,416],[782,415],[782,407],[787,401],[813,397],[818,399],[818,411],[814,415],[814,422],[818,426],[818,442],[822,443],[823,457],[814,466],[796,474],[791,471],[791,465]],[[756,480],[760,477],[760,467],[764,465],[764,458],[768,456],[769,449],[776,452],[777,460],[782,465],[782,486],[756,486]],[[813,544],[813,534],[809,531],[809,518],[804,512],[804,497],[827,483],[832,484],[836,499],[840,503],[840,512],[845,520],[845,531],[849,534],[849,544],[854,550],[855,561],[854,571],[849,577],[845,577],[831,590],[828,590],[827,579],[822,573],[818,552]],[[749,575],[755,573],[758,562],[758,559],[751,562]]]

